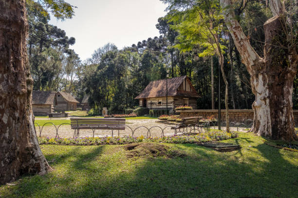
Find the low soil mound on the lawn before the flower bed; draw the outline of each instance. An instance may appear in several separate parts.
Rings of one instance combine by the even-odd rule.
[[[169,148],[166,145],[156,143],[135,143],[124,146],[124,149],[129,150],[128,157],[184,157],[185,154],[181,151]]]

